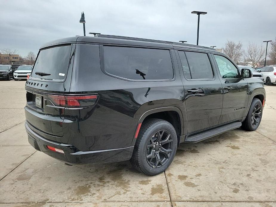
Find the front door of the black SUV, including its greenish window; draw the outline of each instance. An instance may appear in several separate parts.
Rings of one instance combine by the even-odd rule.
[[[223,104],[219,123],[231,122],[246,116],[248,84],[240,76],[235,64],[223,55],[213,54],[214,62],[223,88]],[[224,67],[219,67],[224,65]]]

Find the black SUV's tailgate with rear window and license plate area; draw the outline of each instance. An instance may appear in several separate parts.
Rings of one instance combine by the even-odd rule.
[[[65,107],[57,106],[53,96],[69,93],[74,50],[75,44],[40,50],[25,85],[28,126],[39,135],[56,141],[63,136]]]

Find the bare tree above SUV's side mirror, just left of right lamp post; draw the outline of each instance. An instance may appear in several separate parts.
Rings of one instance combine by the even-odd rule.
[[[263,60],[265,50],[263,46],[259,46],[255,43],[248,43],[247,50],[244,53],[244,60],[251,64],[252,62],[252,67],[255,68],[255,66]]]

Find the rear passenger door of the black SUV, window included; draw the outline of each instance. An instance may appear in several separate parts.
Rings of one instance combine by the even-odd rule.
[[[210,62],[210,55],[181,50],[176,53],[184,85],[187,132],[217,125],[221,116],[222,85]]]

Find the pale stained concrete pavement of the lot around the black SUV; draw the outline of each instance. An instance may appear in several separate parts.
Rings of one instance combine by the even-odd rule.
[[[24,129],[25,81],[0,81],[2,206],[276,206],[276,85],[256,132],[181,144],[165,173],[129,162],[67,166],[36,151]],[[241,203],[245,202],[245,203]]]

